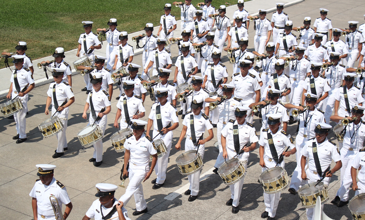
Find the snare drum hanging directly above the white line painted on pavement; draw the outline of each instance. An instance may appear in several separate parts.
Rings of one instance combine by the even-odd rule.
[[[203,168],[203,160],[198,153],[195,155],[196,150],[188,150],[178,155],[176,158],[177,168],[183,175],[191,175]]]

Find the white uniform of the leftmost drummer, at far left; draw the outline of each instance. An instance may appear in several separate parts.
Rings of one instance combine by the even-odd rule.
[[[11,98],[14,99],[16,96],[18,96],[18,92],[16,92],[15,84],[14,84],[14,73],[15,70],[13,70],[13,73],[10,77],[10,82],[12,82],[13,85],[13,91],[11,93]],[[20,86],[20,92],[22,92],[22,89],[27,86],[27,84],[31,85],[34,83],[32,73],[28,69],[24,69],[24,66],[22,69],[18,70],[16,72],[16,78],[18,78],[19,86]],[[28,98],[29,94],[26,94],[23,97],[18,96],[18,99],[23,104],[22,111],[14,114],[15,119],[15,126],[16,126],[16,133],[19,134],[19,138],[27,138],[27,134],[25,132],[26,127],[26,118],[28,112]]]

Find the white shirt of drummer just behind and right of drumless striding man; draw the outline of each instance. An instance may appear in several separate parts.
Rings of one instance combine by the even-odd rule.
[[[158,132],[157,119],[156,119],[156,107],[160,105],[161,109],[161,120],[162,127],[166,127],[170,123],[178,123],[179,119],[177,118],[177,110],[172,106],[171,103],[166,103],[165,105],[161,105],[159,102],[154,103],[151,107],[149,119],[153,120],[153,130]]]

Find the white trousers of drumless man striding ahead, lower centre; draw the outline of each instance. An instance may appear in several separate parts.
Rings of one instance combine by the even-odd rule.
[[[150,167],[137,166],[133,163],[129,163],[129,184],[126,189],[126,193],[120,197],[119,201],[122,201],[124,205],[127,205],[129,200],[134,195],[137,211],[143,211],[147,208],[145,197],[143,196],[142,182],[146,177],[146,174],[150,171]]]

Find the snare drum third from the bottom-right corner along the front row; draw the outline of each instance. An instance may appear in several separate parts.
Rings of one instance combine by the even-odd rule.
[[[289,186],[287,171],[283,167],[272,167],[260,174],[260,182],[264,192],[275,194]]]

